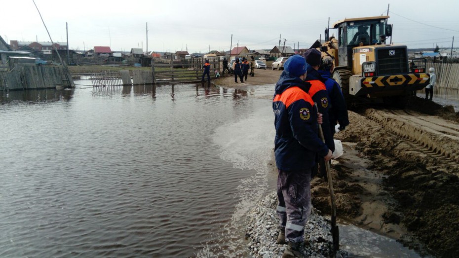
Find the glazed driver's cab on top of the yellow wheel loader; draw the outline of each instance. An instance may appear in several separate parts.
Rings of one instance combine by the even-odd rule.
[[[353,48],[357,46],[385,44],[387,37],[392,35],[392,25],[387,24],[389,16],[351,18],[336,22],[338,64],[340,67],[352,69]],[[326,30],[325,37],[329,32]]]

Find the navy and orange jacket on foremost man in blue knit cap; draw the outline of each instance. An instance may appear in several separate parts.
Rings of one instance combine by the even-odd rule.
[[[274,154],[276,166],[284,171],[301,171],[325,157],[328,147],[317,136],[317,110],[307,94],[310,84],[283,72],[275,86]]]

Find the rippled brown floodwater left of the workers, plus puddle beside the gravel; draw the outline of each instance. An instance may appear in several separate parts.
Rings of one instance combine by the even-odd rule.
[[[0,257],[248,257],[273,85],[85,83],[0,94]],[[348,228],[343,249],[392,254]]]

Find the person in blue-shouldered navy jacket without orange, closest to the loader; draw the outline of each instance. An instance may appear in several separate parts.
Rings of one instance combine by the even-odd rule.
[[[339,130],[343,131],[349,125],[349,118],[347,116],[347,107],[344,100],[343,92],[341,91],[340,84],[332,78],[334,64],[333,59],[322,59],[319,74],[326,79],[325,88],[327,89],[328,96],[330,97],[330,108],[328,109],[328,119],[332,138],[335,135],[335,127],[339,123]]]

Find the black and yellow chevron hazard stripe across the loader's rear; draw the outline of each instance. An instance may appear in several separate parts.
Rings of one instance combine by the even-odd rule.
[[[406,86],[406,85],[427,85],[429,81],[428,74],[397,74],[387,76],[365,77],[362,80],[362,86],[386,87],[386,86]]]

